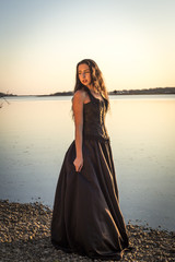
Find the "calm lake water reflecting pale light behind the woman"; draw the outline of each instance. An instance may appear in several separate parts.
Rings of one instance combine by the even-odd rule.
[[[74,136],[71,97],[8,100],[0,109],[0,199],[52,207]],[[175,96],[112,96],[106,127],[125,221],[175,230]]]

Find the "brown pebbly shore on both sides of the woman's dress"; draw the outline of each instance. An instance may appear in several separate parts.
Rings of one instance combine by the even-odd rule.
[[[42,203],[0,201],[0,262],[93,261],[56,250],[50,243],[50,219],[51,210]],[[175,261],[175,233],[130,224],[127,228],[133,250],[121,262]]]

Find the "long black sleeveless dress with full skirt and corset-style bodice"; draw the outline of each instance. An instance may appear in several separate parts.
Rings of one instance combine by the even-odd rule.
[[[91,102],[83,106],[83,168],[75,171],[73,141],[58,179],[51,242],[57,249],[92,259],[119,260],[129,243],[104,122],[108,102],[84,90]]]

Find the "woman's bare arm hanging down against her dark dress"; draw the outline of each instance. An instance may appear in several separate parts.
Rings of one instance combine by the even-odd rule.
[[[73,115],[75,126],[75,159],[73,162],[77,171],[83,167],[82,136],[83,136],[83,103],[85,94],[83,91],[77,91],[73,96]]]

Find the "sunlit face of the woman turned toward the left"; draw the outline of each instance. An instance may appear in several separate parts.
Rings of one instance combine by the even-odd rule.
[[[91,71],[90,67],[86,63],[79,64],[78,67],[78,74],[80,82],[85,85],[91,85]]]

